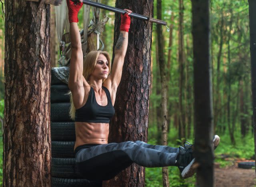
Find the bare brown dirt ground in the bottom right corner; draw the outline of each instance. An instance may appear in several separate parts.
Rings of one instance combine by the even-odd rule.
[[[241,169],[235,163],[226,168],[214,169],[215,187],[254,187],[256,177],[254,169]]]

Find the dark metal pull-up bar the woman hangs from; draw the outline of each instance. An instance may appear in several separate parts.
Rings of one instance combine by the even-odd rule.
[[[72,1],[77,1],[77,0],[72,0]],[[90,0],[83,0],[83,3],[87,4],[87,5],[90,5],[90,6],[94,6],[96,8],[102,8],[102,9],[105,9],[105,10],[109,10],[111,12],[116,12],[116,13],[119,13],[119,14],[125,14],[126,13],[125,10],[122,10],[120,8],[115,8],[115,7],[112,7],[112,6],[108,6],[106,4],[101,4],[101,3],[93,2],[93,1],[90,1]],[[136,14],[136,13],[131,13],[129,16],[132,17],[132,18],[136,18],[136,19],[144,20],[144,21],[149,21],[149,22],[153,22],[153,23],[156,23],[156,24],[161,24],[161,25],[164,25],[164,26],[167,25],[167,23],[162,21],[162,20],[157,20],[157,19],[154,19],[154,18],[148,18],[146,16]]]

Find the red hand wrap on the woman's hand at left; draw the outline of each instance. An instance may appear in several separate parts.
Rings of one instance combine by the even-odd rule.
[[[70,23],[78,22],[78,12],[80,8],[82,8],[83,3],[81,2],[73,2],[72,0],[67,0],[68,5],[68,20]]]

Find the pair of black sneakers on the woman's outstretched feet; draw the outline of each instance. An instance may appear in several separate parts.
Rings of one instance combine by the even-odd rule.
[[[214,135],[212,140],[214,149],[220,143],[220,137],[218,135]],[[194,167],[195,158],[193,145],[191,143],[184,143],[184,147],[180,146],[180,153],[177,157],[176,165],[178,166],[181,176],[183,179],[191,177],[196,172],[196,167]]]

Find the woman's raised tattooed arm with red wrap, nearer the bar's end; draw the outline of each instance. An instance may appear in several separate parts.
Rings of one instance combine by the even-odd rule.
[[[126,9],[124,9],[126,10]],[[122,69],[124,65],[124,57],[128,46],[128,30],[130,28],[130,16],[132,11],[126,10],[128,13],[121,16],[120,35],[116,42],[114,50],[114,61],[111,73],[104,82],[104,85],[109,88],[112,96],[112,101],[115,100],[116,90],[122,77]],[[114,98],[113,98],[114,97]],[[113,103],[114,104],[114,103]]]

